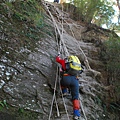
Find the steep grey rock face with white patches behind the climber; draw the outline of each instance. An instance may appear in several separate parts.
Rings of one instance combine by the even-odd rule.
[[[54,88],[56,80],[57,64],[55,56],[59,48],[57,42],[61,40],[58,31],[54,31],[53,23],[55,22],[58,29],[60,31],[63,30],[62,40],[69,54],[77,55],[84,66],[84,72],[79,77],[79,82],[81,86],[80,98],[82,110],[84,110],[87,119],[119,119],[119,116],[116,118],[114,116],[111,117],[109,112],[105,112],[105,103],[102,101],[103,99],[107,100],[104,91],[104,83],[106,83],[107,76],[103,72],[104,64],[100,61],[100,47],[102,41],[108,37],[106,36],[108,31],[105,34],[103,34],[102,30],[103,33],[96,32],[94,29],[87,31],[87,26],[83,26],[70,18],[68,19],[68,14],[62,13],[58,9],[57,6],[59,5],[55,7],[55,4],[47,3],[47,6],[55,20],[52,21],[50,14],[47,14],[49,19],[46,18],[46,21],[51,26],[50,33],[54,35],[51,36],[43,32],[45,36],[41,37],[38,41],[34,41],[34,49],[33,46],[30,48],[25,46],[19,49],[14,48],[15,43],[18,46],[20,45],[17,43],[20,38],[17,38],[18,36],[15,32],[12,33],[14,38],[10,38],[10,33],[6,30],[8,28],[5,25],[9,24],[12,26],[13,24],[11,21],[5,24],[4,22],[8,21],[9,17],[4,13],[0,13],[0,16],[2,16],[0,21],[0,100],[6,100],[7,104],[11,106],[39,113],[37,116],[38,120],[49,118],[53,99],[51,88]],[[5,5],[2,4],[2,7],[5,7]],[[49,12],[46,10],[46,13]],[[62,14],[66,15],[63,20],[63,29],[60,24]],[[28,27],[30,26],[26,26],[26,29]],[[5,30],[8,33],[5,33]],[[11,45],[9,44],[10,40]],[[86,68],[83,53],[88,59],[91,70]],[[61,117],[58,118],[56,116],[56,107],[53,105],[52,120],[68,119],[63,100],[59,95],[59,89],[58,85],[58,94],[56,96]],[[67,98],[64,98],[64,101],[69,117],[72,119],[72,103]],[[85,115],[82,112],[83,120]]]

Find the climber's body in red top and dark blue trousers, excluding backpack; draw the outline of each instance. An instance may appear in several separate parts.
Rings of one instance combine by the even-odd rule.
[[[68,59],[61,59],[60,54],[56,57],[56,62],[60,63],[63,70],[63,75],[61,79],[61,89],[63,95],[67,93],[67,88],[69,87],[71,90],[72,95],[72,103],[73,103],[73,117],[74,120],[79,120],[80,118],[80,101],[79,101],[79,82],[76,75],[71,75],[69,72],[67,72],[67,64]],[[83,71],[80,70],[80,74]]]

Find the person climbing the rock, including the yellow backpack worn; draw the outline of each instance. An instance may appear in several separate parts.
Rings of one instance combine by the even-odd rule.
[[[56,62],[61,64],[63,74],[62,74],[62,79],[61,79],[61,89],[63,95],[67,93],[67,88],[70,88],[71,90],[71,96],[72,96],[72,103],[73,103],[73,118],[74,120],[79,120],[80,119],[80,101],[79,101],[79,81],[78,81],[78,74],[81,74],[83,72],[81,68],[81,64],[75,63],[72,61],[72,59],[76,59],[77,62],[79,62],[79,59],[77,56],[69,56],[68,58],[61,59],[60,54],[56,56]],[[72,66],[75,64],[78,68],[77,70],[74,71],[75,66]],[[79,72],[78,72],[79,71]]]

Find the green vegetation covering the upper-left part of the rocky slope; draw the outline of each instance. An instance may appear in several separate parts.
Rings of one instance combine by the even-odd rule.
[[[9,48],[19,51],[25,47],[33,51],[38,40],[46,34],[52,35],[51,26],[45,21],[47,17],[39,0],[4,1],[0,8],[1,32],[6,34],[1,41],[3,52],[6,51],[5,39],[9,42]],[[11,58],[14,57],[10,56]]]

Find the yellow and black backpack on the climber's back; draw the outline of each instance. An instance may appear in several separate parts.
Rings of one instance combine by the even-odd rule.
[[[78,76],[82,70],[81,62],[77,56],[69,56],[66,63],[66,72],[70,75]]]

